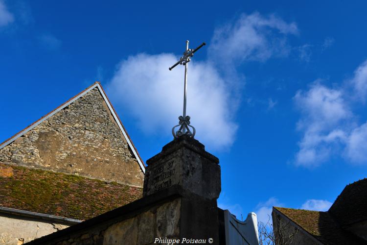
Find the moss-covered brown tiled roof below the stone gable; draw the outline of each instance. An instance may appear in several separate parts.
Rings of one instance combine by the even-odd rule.
[[[142,188],[0,163],[0,206],[87,220],[142,196]]]

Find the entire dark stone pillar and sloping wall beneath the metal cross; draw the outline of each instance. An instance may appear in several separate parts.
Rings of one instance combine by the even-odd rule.
[[[29,245],[221,244],[219,159],[183,135],[147,163],[143,198]]]

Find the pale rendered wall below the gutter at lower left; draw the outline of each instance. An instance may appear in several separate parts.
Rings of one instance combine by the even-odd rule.
[[[67,227],[69,225],[0,213],[0,245],[21,245]]]

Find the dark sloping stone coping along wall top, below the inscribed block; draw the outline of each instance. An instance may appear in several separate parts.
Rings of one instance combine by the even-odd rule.
[[[202,197],[193,194],[187,190],[184,190],[179,185],[173,185],[170,188],[161,190],[155,194],[145,196],[141,199],[138,199],[134,202],[96,216],[90,220],[83,221],[81,223],[72,225],[68,228],[63,230],[51,233],[47,236],[35,239],[27,244],[29,245],[43,245],[43,244],[50,244],[56,243],[62,240],[62,238],[68,238],[72,236],[73,233],[83,233],[88,232],[89,228],[93,226],[106,226],[108,224],[113,224],[119,221],[123,221],[126,219],[133,218],[138,214],[141,214],[152,206],[155,206],[160,203],[164,203],[170,200],[174,200],[179,197],[188,197],[189,199],[202,199]]]

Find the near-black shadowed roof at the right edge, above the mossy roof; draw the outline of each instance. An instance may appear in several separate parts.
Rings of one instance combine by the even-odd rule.
[[[345,186],[329,209],[342,225],[367,220],[367,178]]]

